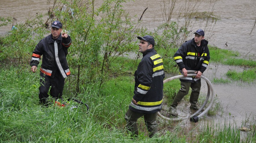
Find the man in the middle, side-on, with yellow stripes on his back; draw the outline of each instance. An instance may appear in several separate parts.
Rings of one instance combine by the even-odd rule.
[[[125,114],[126,128],[133,136],[138,136],[137,119],[144,116],[149,137],[158,132],[157,112],[162,108],[164,66],[161,56],[154,49],[152,36],[139,37],[139,52],[143,54],[134,73],[135,86],[133,100]]]

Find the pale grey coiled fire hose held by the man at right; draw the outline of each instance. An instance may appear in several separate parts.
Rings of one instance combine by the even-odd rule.
[[[188,70],[188,77],[192,77],[192,76],[196,76],[195,74],[196,71],[193,71],[193,70]],[[184,75],[176,75],[174,77],[170,77],[170,78],[167,78],[166,80],[164,80],[164,83],[168,82],[168,81],[171,81],[171,80],[174,80],[174,79],[177,79],[177,78],[181,78],[181,77],[184,77]],[[158,112],[158,116],[165,119],[165,120],[169,120],[169,121],[182,121],[184,119],[187,119],[187,118],[190,118],[190,121],[193,121],[193,122],[197,122],[199,118],[201,118],[205,113],[207,113],[209,111],[209,109],[211,108],[213,102],[214,102],[214,90],[213,90],[213,86],[210,82],[210,80],[208,80],[203,74],[201,75],[201,78],[204,79],[207,83],[207,86],[208,86],[208,92],[207,92],[207,96],[205,98],[205,101],[203,103],[203,105],[198,109],[198,111],[196,111],[194,114],[188,116],[188,117],[180,117],[180,118],[168,118],[168,117],[165,117],[163,115],[161,115],[160,112]],[[209,106],[203,111],[202,109],[205,107],[205,105],[207,104],[207,101],[210,97],[210,93],[211,93],[211,101],[210,101],[210,104]],[[198,113],[201,112],[201,114],[198,115]],[[196,116],[198,115],[198,116]],[[177,116],[178,117],[178,116]]]

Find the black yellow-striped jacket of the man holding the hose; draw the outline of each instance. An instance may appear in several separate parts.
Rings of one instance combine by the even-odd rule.
[[[197,47],[194,38],[186,41],[174,54],[174,61],[180,67],[180,71],[183,68],[186,70],[195,70],[204,72],[209,64],[210,53],[208,49],[208,41],[202,40],[201,46]],[[184,82],[197,82],[201,79],[195,77],[182,77],[180,81]]]

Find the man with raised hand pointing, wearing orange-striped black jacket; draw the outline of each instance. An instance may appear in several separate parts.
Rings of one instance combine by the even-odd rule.
[[[36,72],[39,60],[43,55],[40,68],[39,100],[42,104],[48,104],[48,91],[53,98],[62,98],[64,81],[70,75],[67,65],[67,49],[71,45],[71,38],[66,33],[62,33],[62,24],[54,21],[51,26],[50,35],[43,38],[33,51],[30,61],[31,71]]]

